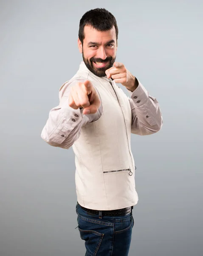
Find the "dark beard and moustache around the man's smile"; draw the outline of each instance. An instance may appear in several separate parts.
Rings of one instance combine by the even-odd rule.
[[[83,61],[85,62],[86,67],[88,68],[88,70],[90,70],[90,72],[92,72],[95,76],[99,76],[99,77],[106,76],[105,71],[107,69],[109,69],[110,67],[113,67],[113,63],[116,60],[116,57],[113,58],[111,56],[107,57],[105,60],[103,60],[101,58],[94,58],[94,57],[92,57],[92,58],[90,58],[90,60],[88,60],[84,56],[83,49],[82,49],[82,58],[83,58]],[[100,62],[100,63],[108,62],[108,63],[106,64],[105,67],[95,67],[93,62]]]

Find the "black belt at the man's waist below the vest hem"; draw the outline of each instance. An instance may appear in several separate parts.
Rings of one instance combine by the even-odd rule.
[[[81,205],[80,205],[80,207],[82,209],[84,209],[86,212],[90,212],[90,213],[96,214],[96,215],[103,215],[103,216],[123,216],[123,215],[129,214],[133,209],[133,206],[131,206],[131,207],[123,208],[123,209],[99,211],[99,210],[87,209]]]

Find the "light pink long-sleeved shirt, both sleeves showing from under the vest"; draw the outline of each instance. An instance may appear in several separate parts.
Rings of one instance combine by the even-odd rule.
[[[77,82],[75,80],[68,85],[66,83],[61,93],[61,100],[57,107],[49,112],[48,120],[42,130],[41,137],[49,145],[70,148],[80,136],[80,128],[89,122],[94,122],[101,116],[102,103],[95,114],[84,115],[82,110],[75,110],[68,105],[70,87]],[[129,98],[132,111],[131,132],[138,135],[149,135],[159,131],[162,127],[162,115],[157,99],[149,96],[144,86],[139,82],[134,92],[130,92]]]

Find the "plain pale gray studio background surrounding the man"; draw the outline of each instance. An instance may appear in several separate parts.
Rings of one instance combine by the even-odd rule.
[[[164,118],[158,133],[132,136],[139,202],[129,255],[202,256],[203,3],[195,0],[0,1],[0,256],[85,254],[72,148],[40,134],[82,60],[79,20],[97,7],[115,15],[117,61]]]

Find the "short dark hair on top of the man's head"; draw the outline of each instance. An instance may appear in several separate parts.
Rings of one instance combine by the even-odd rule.
[[[98,31],[107,31],[115,26],[116,41],[118,40],[118,26],[115,17],[104,8],[96,8],[85,12],[79,24],[79,40],[83,44],[85,38],[84,27],[92,26]]]

